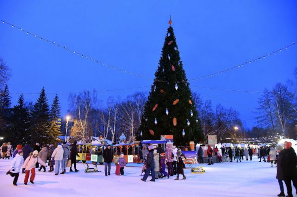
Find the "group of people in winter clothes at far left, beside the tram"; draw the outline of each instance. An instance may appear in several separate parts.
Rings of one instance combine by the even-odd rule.
[[[77,142],[75,141],[70,147],[66,142],[63,142],[59,143],[57,147],[54,147],[53,144],[45,144],[41,147],[39,143],[36,143],[33,148],[29,144],[25,144],[24,147],[22,144],[18,144],[12,153],[12,146],[8,142],[7,144],[3,143],[0,152],[3,159],[9,159],[10,156],[13,158],[11,168],[6,172],[7,175],[14,177],[13,185],[17,186],[20,172],[25,174],[24,184],[27,185],[30,173],[30,183],[34,184],[36,168],[39,168],[38,171],[43,170],[43,172],[47,172],[46,167],[49,166],[49,172],[54,171],[54,175],[59,173],[65,174],[66,163],[69,162],[69,171],[73,172],[73,165],[74,172],[78,172],[79,170],[76,169],[76,157],[79,155],[77,154],[76,144]],[[8,155],[8,152],[10,155]]]

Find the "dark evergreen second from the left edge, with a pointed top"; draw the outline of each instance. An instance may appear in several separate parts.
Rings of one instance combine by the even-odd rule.
[[[31,143],[31,119],[29,111],[25,106],[23,94],[20,95],[17,103],[18,104],[15,105],[12,109],[9,141],[13,145],[16,145],[18,143]]]

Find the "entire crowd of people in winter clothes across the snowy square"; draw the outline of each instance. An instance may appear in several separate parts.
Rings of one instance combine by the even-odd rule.
[[[42,147],[39,143],[32,148],[29,144],[22,146],[18,144],[16,149],[13,148],[9,142],[3,143],[0,147],[1,158],[10,159],[13,158],[11,168],[7,171],[13,179],[13,185],[17,186],[17,181],[19,173],[24,173],[24,184],[27,185],[30,177],[30,183],[34,184],[35,169],[43,172],[47,172],[46,167],[49,166],[49,172],[54,171],[54,175],[65,174],[66,167],[69,167],[69,172],[73,172],[72,166],[74,167],[74,172],[78,172],[76,168],[76,157],[79,157],[77,153],[77,142],[75,141],[70,146],[66,142],[59,143],[57,147],[53,144],[45,144]],[[227,156],[230,158],[230,162],[236,159],[236,162],[242,162],[244,157],[246,160],[252,160],[252,156],[257,156],[262,161],[271,163],[277,167],[276,178],[278,180],[281,193],[279,197],[293,197],[292,195],[292,185],[297,189],[297,155],[292,148],[291,142],[285,142],[284,146],[278,145],[274,147],[260,147],[258,148],[240,148],[240,147],[222,147],[221,153],[218,147],[214,150],[208,145],[207,146],[207,159],[208,165],[213,164],[212,157],[218,158],[219,162],[222,162],[222,156]],[[180,180],[180,175],[183,176],[182,180],[186,179],[184,174],[185,164],[183,160],[187,158],[183,154],[180,148],[175,146],[167,146],[166,149],[159,145],[157,149],[153,146],[144,147],[143,151],[143,172],[145,172],[142,181],[147,181],[148,176],[151,175],[150,181],[154,182],[157,179],[167,177],[173,177],[176,175],[174,180]],[[203,149],[199,147],[197,152],[197,158],[199,163],[203,163]],[[113,160],[113,151],[110,145],[107,145],[103,151],[102,157],[104,158],[105,176],[110,176],[111,162]],[[121,153],[120,158],[117,160],[117,164],[120,167],[119,175],[124,175],[124,167],[126,166],[126,161],[124,159],[124,154]],[[39,166],[40,165],[40,166]],[[167,172],[166,172],[167,167]],[[61,171],[60,171],[61,169]],[[31,176],[30,176],[31,174]],[[288,195],[285,196],[284,185],[285,182],[287,187]]]

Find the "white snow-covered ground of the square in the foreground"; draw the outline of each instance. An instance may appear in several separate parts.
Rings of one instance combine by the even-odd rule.
[[[66,174],[55,176],[53,172],[37,171],[34,185],[29,182],[25,186],[24,174],[20,174],[17,187],[12,185],[13,178],[5,175],[11,160],[0,159],[0,194],[2,197],[275,197],[280,192],[275,179],[276,167],[253,159],[211,166],[202,164],[204,174],[192,174],[187,165],[187,180],[175,181],[170,177],[156,182],[149,182],[150,177],[147,182],[140,180],[141,164],[128,164],[125,176],[115,175],[113,165],[111,176],[106,177],[103,165],[98,165],[102,172],[85,173],[79,163],[77,173],[67,170]]]

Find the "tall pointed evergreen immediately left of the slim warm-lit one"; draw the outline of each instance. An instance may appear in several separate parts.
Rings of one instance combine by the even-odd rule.
[[[49,104],[44,87],[40,92],[39,98],[34,104],[32,118],[32,131],[34,132],[34,136],[36,136],[32,140],[35,140],[40,144],[51,143],[51,139],[49,138]]]

